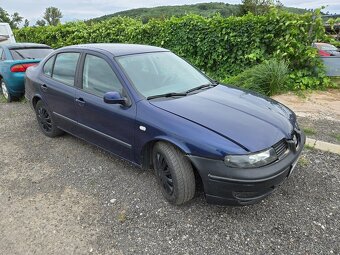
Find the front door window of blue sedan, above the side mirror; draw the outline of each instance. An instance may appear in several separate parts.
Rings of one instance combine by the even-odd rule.
[[[83,90],[102,97],[110,91],[122,93],[122,85],[104,59],[88,54],[84,62]]]

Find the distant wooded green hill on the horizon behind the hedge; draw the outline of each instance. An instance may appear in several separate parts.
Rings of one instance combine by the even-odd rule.
[[[283,7],[285,10],[297,14],[303,14],[308,10]],[[200,3],[192,5],[178,5],[178,6],[158,6],[153,8],[138,8],[127,11],[116,12],[110,15],[105,15],[99,18],[91,19],[90,21],[101,21],[111,17],[122,16],[141,19],[143,22],[147,22],[151,18],[169,18],[171,16],[183,16],[189,13],[198,14],[201,16],[209,17],[216,13],[220,13],[223,17],[239,16],[241,14],[241,8],[239,4],[228,3]]]

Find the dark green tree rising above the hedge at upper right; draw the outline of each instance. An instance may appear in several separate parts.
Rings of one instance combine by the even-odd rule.
[[[255,15],[267,13],[272,7],[282,7],[279,0],[242,0],[241,12],[247,14],[251,12]]]

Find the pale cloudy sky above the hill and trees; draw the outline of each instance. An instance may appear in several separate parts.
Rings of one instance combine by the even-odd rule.
[[[0,0],[0,7],[12,14],[18,12],[31,24],[41,19],[49,6],[57,7],[63,14],[62,22],[86,20],[114,12],[164,5],[183,5],[212,2],[213,0]],[[230,4],[239,4],[241,0],[217,0]],[[339,0],[281,0],[285,6],[314,9],[327,6],[324,11],[340,14]]]

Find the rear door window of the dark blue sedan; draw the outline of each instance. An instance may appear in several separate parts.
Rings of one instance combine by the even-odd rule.
[[[80,53],[59,53],[56,57],[52,78],[70,86],[74,86],[77,63]]]

